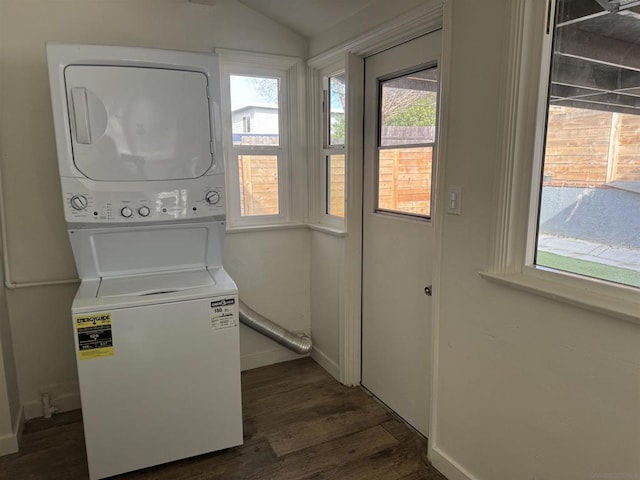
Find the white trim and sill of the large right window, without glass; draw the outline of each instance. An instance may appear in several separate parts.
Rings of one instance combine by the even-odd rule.
[[[533,264],[551,34],[545,31],[547,2],[513,0],[509,9],[511,22],[505,39],[502,89],[505,99],[498,124],[501,150],[496,178],[494,251],[489,270],[480,275],[640,323],[638,289]]]

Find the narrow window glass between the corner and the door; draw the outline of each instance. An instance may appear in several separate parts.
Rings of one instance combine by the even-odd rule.
[[[345,208],[345,74],[336,73],[324,79],[324,213],[344,218]]]

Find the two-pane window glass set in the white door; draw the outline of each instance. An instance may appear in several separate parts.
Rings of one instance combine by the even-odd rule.
[[[380,82],[377,210],[431,216],[438,69]]]

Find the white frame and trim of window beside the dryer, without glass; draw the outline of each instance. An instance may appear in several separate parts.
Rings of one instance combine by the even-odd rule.
[[[304,106],[304,65],[299,58],[281,55],[216,49],[220,59],[222,88],[222,135],[227,178],[227,229],[237,230],[269,225],[298,224],[304,217],[306,198],[303,148],[306,142]],[[242,147],[231,141],[230,75],[256,75],[280,79],[280,147]],[[278,215],[240,215],[239,171],[235,155],[244,151],[256,154],[278,152]],[[242,151],[242,152],[241,152]]]

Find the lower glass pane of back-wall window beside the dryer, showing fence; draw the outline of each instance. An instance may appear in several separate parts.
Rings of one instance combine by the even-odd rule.
[[[238,155],[240,214],[278,215],[278,156]]]

